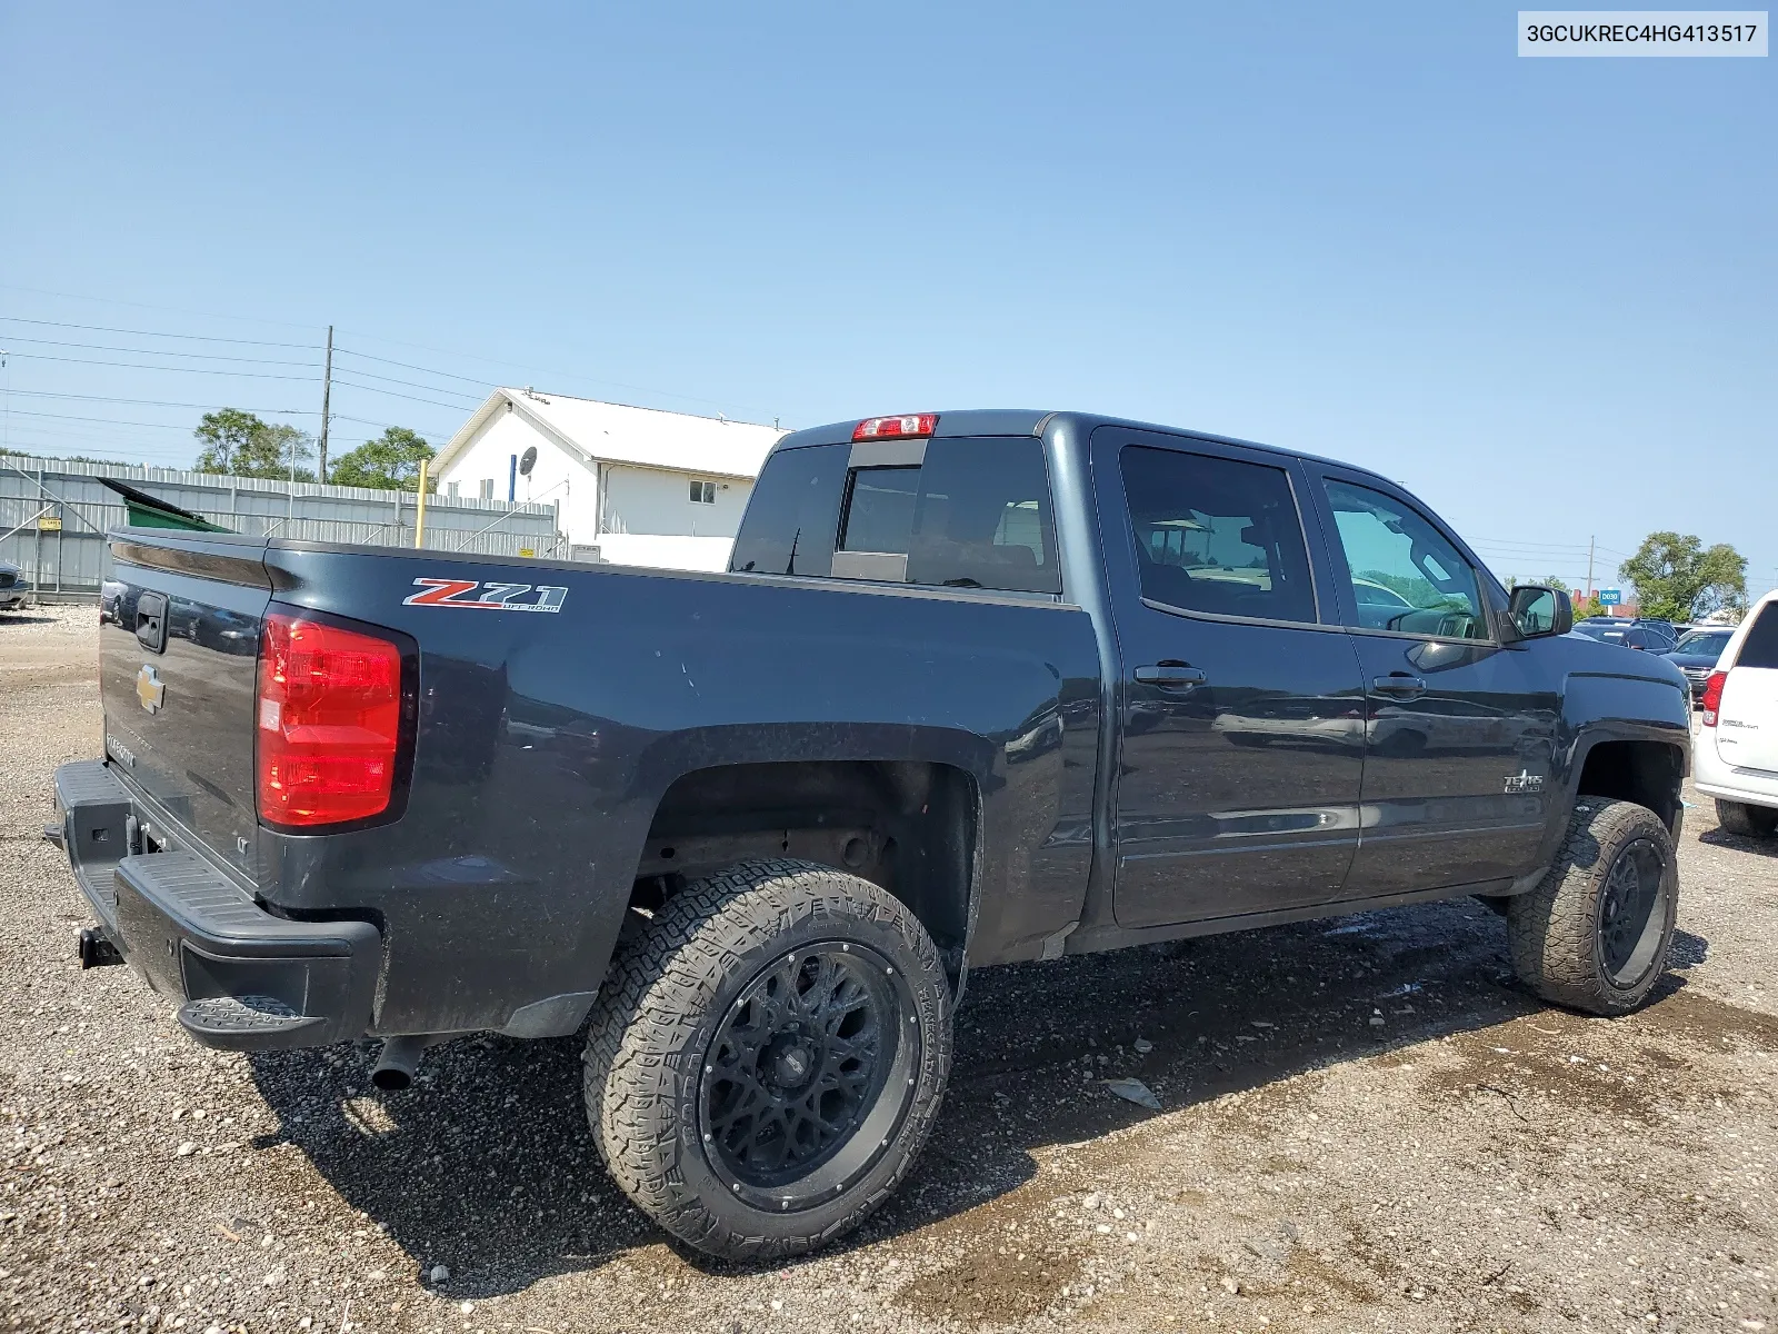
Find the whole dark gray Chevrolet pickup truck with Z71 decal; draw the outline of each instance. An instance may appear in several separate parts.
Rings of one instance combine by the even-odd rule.
[[[843,1234],[971,968],[1479,895],[1643,1001],[1686,681],[1374,473],[1070,413],[782,439],[727,575],[112,534],[105,758],[50,832],[199,1042],[589,1028],[672,1234]]]

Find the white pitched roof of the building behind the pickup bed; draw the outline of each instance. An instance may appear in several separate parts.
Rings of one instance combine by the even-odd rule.
[[[432,464],[443,475],[469,439],[494,414],[523,414],[581,462],[624,462],[713,477],[757,477],[770,448],[789,434],[777,427],[729,422],[720,416],[661,413],[653,407],[601,404],[535,390],[494,390],[439,450]]]

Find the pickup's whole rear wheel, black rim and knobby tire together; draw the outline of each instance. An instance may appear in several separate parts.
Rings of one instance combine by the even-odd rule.
[[[749,861],[622,946],[587,1042],[587,1115],[654,1222],[772,1261],[894,1192],[949,1062],[949,984],[907,905],[830,866]]]

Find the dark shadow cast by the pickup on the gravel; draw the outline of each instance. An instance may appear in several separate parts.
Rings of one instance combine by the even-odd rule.
[[[1707,948],[1680,932],[1673,964],[1694,966]],[[1661,984],[1680,985],[1671,973]],[[1140,1078],[1172,1112],[1538,1009],[1511,984],[1502,923],[1470,900],[981,971],[930,1145],[841,1245],[960,1215],[1029,1181],[1031,1151],[1154,1115],[1104,1078]],[[446,1265],[452,1298],[597,1268],[665,1238],[599,1163],[581,1046],[462,1039],[434,1048],[402,1094],[370,1087],[372,1044],[261,1053],[254,1080],[283,1122],[261,1144],[299,1145],[421,1279]]]

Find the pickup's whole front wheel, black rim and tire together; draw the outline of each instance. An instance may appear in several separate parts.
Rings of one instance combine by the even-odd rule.
[[[1627,1014],[1666,969],[1677,916],[1678,870],[1661,816],[1582,797],[1549,875],[1508,905],[1513,971],[1556,1005]]]

